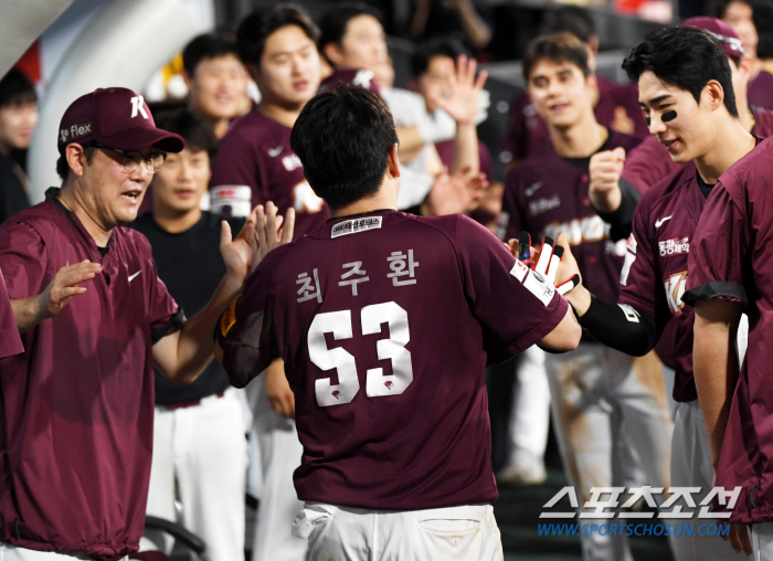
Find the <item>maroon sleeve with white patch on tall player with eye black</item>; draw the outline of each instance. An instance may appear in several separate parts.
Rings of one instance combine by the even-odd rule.
[[[652,240],[649,205],[646,200],[636,208],[631,236],[625,251],[625,262],[620,276],[617,301],[635,308],[640,314],[657,317],[663,309],[658,295],[663,295],[660,267],[655,254],[657,242]],[[667,314],[667,310],[666,310]]]

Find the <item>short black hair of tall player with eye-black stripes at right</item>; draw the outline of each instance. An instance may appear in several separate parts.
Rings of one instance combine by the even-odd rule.
[[[719,40],[702,29],[670,28],[652,31],[631,50],[623,70],[633,82],[646,71],[660,81],[692,94],[700,103],[700,93],[710,80],[724,91],[724,106],[738,117],[735,93],[728,55]]]

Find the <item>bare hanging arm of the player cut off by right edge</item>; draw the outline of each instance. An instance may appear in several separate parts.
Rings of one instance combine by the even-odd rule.
[[[696,303],[692,364],[714,472],[738,381],[739,364],[734,341],[742,307],[741,303],[720,299]]]

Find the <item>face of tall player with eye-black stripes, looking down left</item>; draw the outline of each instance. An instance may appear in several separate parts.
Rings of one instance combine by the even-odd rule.
[[[710,84],[719,86],[716,81]],[[690,92],[664,83],[652,71],[645,71],[638,78],[639,105],[649,119],[649,133],[657,135],[675,162],[692,161],[711,148],[714,110],[708,87],[708,84],[703,87],[699,104]],[[670,112],[676,112],[676,118],[664,123],[663,116]]]

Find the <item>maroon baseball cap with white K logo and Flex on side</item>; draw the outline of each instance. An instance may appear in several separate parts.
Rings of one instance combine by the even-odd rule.
[[[98,88],[75,99],[59,127],[59,152],[70,142],[99,142],[117,150],[141,150],[155,146],[167,152],[186,147],[182,137],[156,128],[141,95],[125,87]]]

